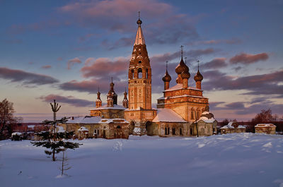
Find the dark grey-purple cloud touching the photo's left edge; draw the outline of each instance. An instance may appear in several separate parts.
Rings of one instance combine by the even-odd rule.
[[[46,85],[59,82],[59,80],[51,76],[3,67],[0,67],[0,78],[11,80],[12,82],[22,82],[23,85]]]

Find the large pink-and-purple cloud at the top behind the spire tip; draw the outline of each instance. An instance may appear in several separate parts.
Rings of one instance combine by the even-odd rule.
[[[177,13],[171,4],[156,0],[76,1],[58,8],[58,12],[69,16],[74,24],[88,28],[96,25],[99,29],[119,32],[119,40],[103,40],[101,45],[107,49],[125,47],[134,42],[138,11],[141,11],[141,20],[146,25],[146,44],[176,44],[198,37],[194,24],[204,17],[204,14]],[[87,38],[83,36],[79,40]]]

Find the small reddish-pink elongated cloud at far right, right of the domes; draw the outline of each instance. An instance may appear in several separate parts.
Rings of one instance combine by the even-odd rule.
[[[269,58],[267,53],[246,54],[241,53],[230,59],[231,64],[253,64],[258,61],[266,61]]]

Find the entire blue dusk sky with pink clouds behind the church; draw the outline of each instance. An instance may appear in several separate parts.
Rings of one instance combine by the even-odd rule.
[[[204,96],[216,119],[249,120],[261,109],[283,113],[283,1],[0,1],[1,99],[25,122],[50,114],[88,114],[98,86],[127,87],[137,12],[151,68],[153,104],[165,61],[175,83],[180,45],[190,67],[200,60]],[[118,100],[122,100],[122,94]],[[51,116],[51,115],[50,115]]]

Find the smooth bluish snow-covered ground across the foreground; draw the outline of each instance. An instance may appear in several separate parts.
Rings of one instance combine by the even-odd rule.
[[[130,136],[82,140],[60,159],[30,141],[0,141],[0,186],[283,186],[283,135]],[[57,155],[59,158],[61,155]]]

